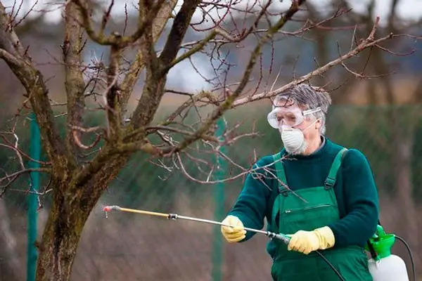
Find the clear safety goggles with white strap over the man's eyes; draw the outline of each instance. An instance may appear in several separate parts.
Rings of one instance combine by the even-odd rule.
[[[321,111],[321,107],[312,110],[301,110],[297,105],[289,107],[274,107],[267,115],[268,123],[274,129],[281,128],[281,125],[298,126],[305,120],[306,115]]]

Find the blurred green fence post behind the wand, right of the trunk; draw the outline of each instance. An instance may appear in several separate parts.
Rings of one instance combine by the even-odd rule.
[[[217,138],[221,137],[224,133],[224,119],[220,118],[217,121]],[[222,153],[226,153],[224,146],[221,148]],[[226,165],[224,159],[217,155],[217,165],[218,169],[217,180],[222,180],[226,172]],[[224,216],[224,183],[217,183],[214,192],[214,202],[215,202],[215,220],[221,221]],[[222,280],[222,265],[223,265],[223,243],[222,243],[222,233],[220,228],[214,228],[214,242],[212,245],[212,280],[221,281]]]

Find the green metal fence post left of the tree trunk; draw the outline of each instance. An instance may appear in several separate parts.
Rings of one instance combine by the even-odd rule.
[[[30,157],[39,161],[41,156],[41,138],[39,136],[39,127],[34,113],[31,115],[31,134],[30,134]],[[39,168],[39,162],[30,161],[30,168]],[[31,172],[32,191],[39,190],[39,172]],[[37,195],[30,193],[27,195],[27,281],[35,280],[37,270]]]

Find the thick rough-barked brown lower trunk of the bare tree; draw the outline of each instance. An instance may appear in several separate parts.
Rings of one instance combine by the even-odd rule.
[[[110,156],[83,186],[72,186],[71,179],[55,185],[53,206],[39,244],[37,281],[70,280],[77,246],[89,214],[128,159],[129,155]]]

